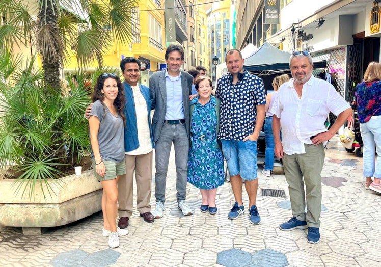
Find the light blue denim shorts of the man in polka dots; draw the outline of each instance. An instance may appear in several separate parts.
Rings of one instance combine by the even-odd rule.
[[[231,176],[239,174],[246,181],[257,179],[257,141],[221,141],[229,174]]]

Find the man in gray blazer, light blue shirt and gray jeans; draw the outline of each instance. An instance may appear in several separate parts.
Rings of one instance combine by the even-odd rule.
[[[187,159],[189,150],[189,95],[193,77],[180,71],[184,63],[184,50],[180,45],[170,44],[166,50],[167,69],[154,73],[149,82],[152,109],[153,141],[155,142],[155,218],[164,215],[166,179],[172,143],[175,148],[177,207],[183,215],[193,211],[185,203],[187,182]]]

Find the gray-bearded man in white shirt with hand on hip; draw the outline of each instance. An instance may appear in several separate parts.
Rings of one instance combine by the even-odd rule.
[[[307,242],[316,244],[320,241],[324,143],[335,135],[352,109],[330,83],[312,75],[313,63],[308,51],[294,51],[290,69],[293,78],[279,88],[271,109],[276,115],[273,117],[275,155],[283,158],[293,216],[279,228],[284,231],[308,228]],[[324,122],[330,112],[338,117],[326,130]]]

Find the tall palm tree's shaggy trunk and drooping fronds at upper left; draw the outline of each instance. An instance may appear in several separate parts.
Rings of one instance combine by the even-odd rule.
[[[131,11],[137,5],[136,0],[0,0],[0,47],[35,47],[45,85],[58,90],[70,49],[78,67],[94,61],[102,67],[112,40],[131,40]]]

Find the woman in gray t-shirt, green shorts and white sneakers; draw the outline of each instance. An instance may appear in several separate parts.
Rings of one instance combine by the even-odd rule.
[[[118,235],[128,230],[116,227],[118,188],[120,175],[126,173],[124,161],[123,113],[125,95],[119,77],[103,73],[98,77],[92,95],[93,106],[89,118],[91,158],[95,177],[102,183],[102,235],[108,236],[108,246],[119,246]]]

